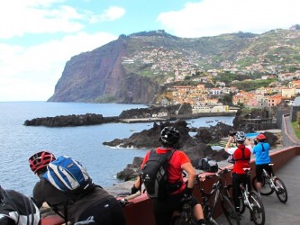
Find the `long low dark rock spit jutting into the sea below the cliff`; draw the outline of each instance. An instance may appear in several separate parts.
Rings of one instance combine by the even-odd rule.
[[[234,116],[235,112],[192,113],[189,103],[182,105],[151,106],[149,108],[124,110],[119,116],[104,117],[102,114],[86,113],[79,115],[58,115],[24,121],[25,126],[68,127],[99,125],[110,122],[176,121],[200,117]]]

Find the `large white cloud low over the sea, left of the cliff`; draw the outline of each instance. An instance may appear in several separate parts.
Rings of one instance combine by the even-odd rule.
[[[0,45],[0,101],[46,101],[71,57],[116,38],[81,32],[32,47]]]

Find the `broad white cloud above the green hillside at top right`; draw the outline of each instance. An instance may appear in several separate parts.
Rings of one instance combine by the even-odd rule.
[[[186,4],[180,11],[159,14],[158,21],[179,37],[262,33],[300,23],[299,8],[297,0],[204,0]]]

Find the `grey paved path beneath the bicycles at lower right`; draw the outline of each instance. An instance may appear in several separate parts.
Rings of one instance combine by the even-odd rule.
[[[275,165],[276,166],[276,165]],[[266,225],[294,225],[300,224],[300,157],[294,157],[288,164],[282,166],[276,173],[285,184],[288,200],[281,203],[276,193],[262,196],[266,211]],[[220,225],[228,224],[222,215],[217,219]],[[241,225],[254,224],[250,221],[250,214],[246,209],[241,217]]]

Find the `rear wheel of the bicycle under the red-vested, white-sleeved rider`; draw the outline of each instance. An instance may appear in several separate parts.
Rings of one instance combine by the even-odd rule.
[[[263,225],[265,224],[266,220],[266,214],[265,214],[265,208],[262,204],[262,201],[259,197],[259,194],[255,191],[251,191],[249,194],[249,202],[252,209],[250,209],[250,217],[251,220],[256,225]]]

